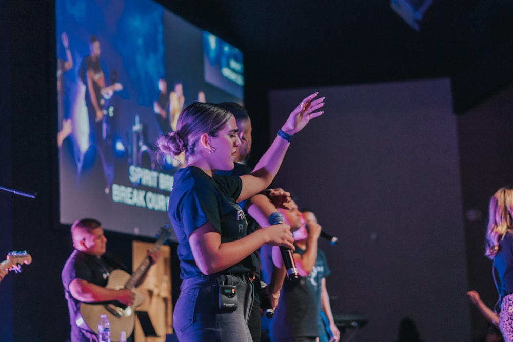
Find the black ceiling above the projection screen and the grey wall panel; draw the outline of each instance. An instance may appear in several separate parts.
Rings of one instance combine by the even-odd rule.
[[[513,0],[433,0],[419,32],[386,0],[159,1],[268,89],[450,76],[461,113],[513,80]]]

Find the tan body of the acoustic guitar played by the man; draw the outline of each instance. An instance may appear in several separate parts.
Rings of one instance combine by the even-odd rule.
[[[109,276],[106,288],[123,289],[130,277],[130,274],[125,271],[114,270]],[[129,337],[135,325],[135,308],[144,301],[144,295],[141,292],[136,291],[135,288],[132,291],[135,293],[135,301],[132,306],[126,308],[114,304],[82,303],[80,305],[80,313],[89,330],[97,334],[100,315],[107,315],[110,323],[110,340],[118,342],[122,331],[125,331],[126,336]]]

